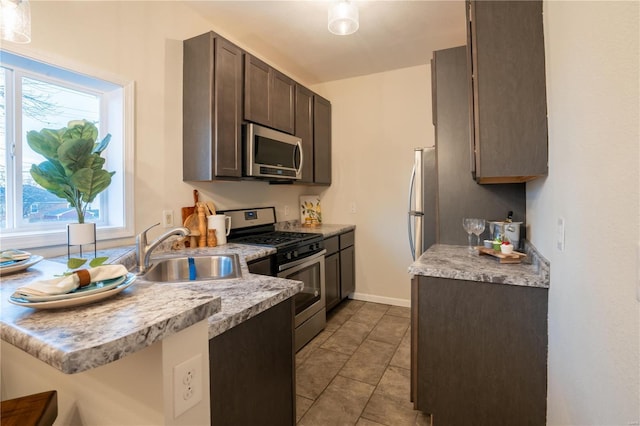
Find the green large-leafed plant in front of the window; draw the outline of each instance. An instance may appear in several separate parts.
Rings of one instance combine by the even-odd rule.
[[[100,156],[111,135],[96,142],[98,129],[86,120],[70,121],[62,129],[27,132],[27,143],[47,159],[31,166],[33,180],[75,208],[78,222],[84,223],[87,207],[111,184],[115,172],[103,169]]]

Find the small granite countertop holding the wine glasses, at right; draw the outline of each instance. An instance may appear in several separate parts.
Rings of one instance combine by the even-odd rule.
[[[549,264],[532,246],[527,262],[499,263],[493,256],[470,254],[467,246],[436,244],[409,266],[412,275],[549,288]]]

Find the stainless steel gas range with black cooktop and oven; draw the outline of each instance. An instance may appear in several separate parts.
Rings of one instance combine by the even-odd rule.
[[[304,283],[294,296],[295,348],[299,350],[326,325],[323,235],[275,231],[273,207],[221,213],[231,217],[230,242],[274,247],[271,275]]]

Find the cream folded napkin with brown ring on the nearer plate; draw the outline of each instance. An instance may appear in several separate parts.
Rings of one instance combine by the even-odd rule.
[[[16,289],[14,297],[49,296],[69,293],[78,287],[84,287],[93,282],[119,278],[127,274],[123,265],[103,265],[91,269],[81,269],[65,277],[36,281]]]

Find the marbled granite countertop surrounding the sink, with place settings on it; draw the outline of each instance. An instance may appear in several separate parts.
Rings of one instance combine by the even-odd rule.
[[[9,296],[20,285],[51,278],[66,269],[60,259],[44,260],[25,272],[2,277],[0,335],[67,374],[118,360],[207,318],[212,338],[302,289],[299,281],[249,273],[247,260],[274,252],[271,248],[226,244],[159,253],[153,259],[237,253],[242,277],[198,283],[156,283],[138,278],[118,295],[65,309],[36,310],[9,303]],[[130,267],[132,254],[130,249],[121,249],[110,259],[117,258],[118,263]]]

